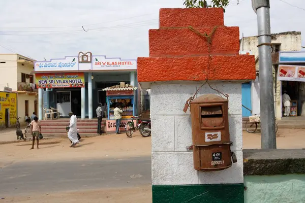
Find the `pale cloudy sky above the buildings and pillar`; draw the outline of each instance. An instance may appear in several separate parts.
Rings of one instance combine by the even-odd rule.
[[[304,0],[270,4],[271,32],[301,31],[305,46]],[[183,0],[0,0],[0,53],[36,60],[79,51],[125,59],[148,56],[148,29],[158,28],[160,8],[184,8]],[[256,18],[251,0],[239,0],[239,5],[231,0],[225,25],[255,36]]]

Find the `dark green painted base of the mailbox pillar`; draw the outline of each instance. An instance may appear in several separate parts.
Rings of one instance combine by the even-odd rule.
[[[153,203],[243,203],[243,184],[153,185]]]

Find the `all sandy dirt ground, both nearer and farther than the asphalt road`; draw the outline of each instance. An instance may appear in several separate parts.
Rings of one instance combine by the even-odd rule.
[[[1,136],[0,136],[1,137]],[[0,168],[18,161],[69,160],[72,158],[128,158],[150,156],[151,138],[142,138],[138,132],[133,138],[125,134],[82,138],[76,148],[69,148],[68,139],[41,140],[40,149],[29,150],[31,142],[0,145]],[[243,131],[243,148],[260,148],[260,133]],[[279,129],[277,148],[305,148],[304,129]],[[90,199],[88,199],[88,197]],[[95,191],[37,194],[31,196],[6,197],[0,202],[44,203],[44,202],[151,202],[151,186],[142,188],[115,188]]]

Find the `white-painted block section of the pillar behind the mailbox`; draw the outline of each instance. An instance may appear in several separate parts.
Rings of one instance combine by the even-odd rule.
[[[229,95],[229,130],[237,163],[218,172],[198,172],[193,165],[191,114],[183,112],[186,100],[202,83],[155,82],[151,92],[151,168],[153,185],[243,183],[241,82],[215,82],[211,86]],[[197,96],[217,94],[205,85]]]

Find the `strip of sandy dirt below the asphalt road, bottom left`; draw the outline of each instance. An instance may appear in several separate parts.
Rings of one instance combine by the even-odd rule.
[[[1,196],[0,196],[1,198]],[[141,188],[115,188],[107,190],[64,192],[0,199],[0,202],[19,203],[147,203],[151,202],[151,186]]]

